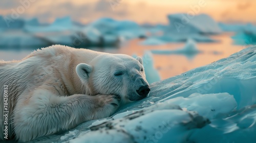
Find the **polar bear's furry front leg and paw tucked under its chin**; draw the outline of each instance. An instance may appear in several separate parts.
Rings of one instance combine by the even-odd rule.
[[[68,130],[82,122],[112,115],[119,101],[113,95],[61,97],[40,89],[33,92],[29,102],[17,104],[13,116],[14,132],[16,138],[24,142]]]

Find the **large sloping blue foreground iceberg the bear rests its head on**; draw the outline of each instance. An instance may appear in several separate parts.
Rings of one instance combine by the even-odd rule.
[[[256,46],[151,84],[111,117],[30,142],[254,142]]]

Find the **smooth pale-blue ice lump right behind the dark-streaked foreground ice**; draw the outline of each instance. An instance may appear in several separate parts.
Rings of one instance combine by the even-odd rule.
[[[168,103],[179,105],[189,111],[196,110],[199,114],[209,119],[216,118],[218,115],[228,114],[237,107],[236,100],[229,93],[193,93],[187,98],[177,97],[170,99]]]

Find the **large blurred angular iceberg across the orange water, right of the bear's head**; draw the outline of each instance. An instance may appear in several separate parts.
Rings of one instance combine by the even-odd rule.
[[[185,42],[187,39],[193,39],[196,42],[218,42],[218,40],[211,39],[208,35],[222,33],[218,23],[206,14],[191,17],[178,13],[170,14],[167,17],[169,25],[148,29],[152,37],[143,41],[142,44],[157,45],[168,42]],[[162,33],[159,31],[162,31]]]

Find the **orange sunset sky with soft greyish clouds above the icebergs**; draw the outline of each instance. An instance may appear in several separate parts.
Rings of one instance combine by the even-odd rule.
[[[31,1],[20,8],[21,2]],[[205,6],[200,7],[199,3]],[[256,23],[254,0],[20,0],[1,1],[0,14],[11,16],[18,11],[21,17],[37,17],[41,22],[52,22],[56,17],[71,16],[75,21],[87,23],[100,17],[129,19],[138,23],[167,23],[167,14],[187,13],[195,7],[196,14],[209,14],[217,21]]]

